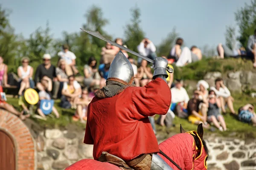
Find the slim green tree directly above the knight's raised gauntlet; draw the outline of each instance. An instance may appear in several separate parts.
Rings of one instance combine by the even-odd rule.
[[[177,36],[178,36],[178,33],[176,32],[176,29],[173,28],[172,32],[170,32],[167,35],[166,39],[162,40],[160,45],[157,47],[157,55],[167,56],[170,53]]]

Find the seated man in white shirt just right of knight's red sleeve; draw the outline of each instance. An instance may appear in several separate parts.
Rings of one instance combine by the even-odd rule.
[[[175,87],[171,89],[172,92],[172,102],[171,110],[177,114],[180,118],[187,118],[187,104],[189,102],[189,95],[186,89],[183,88],[183,80],[176,79]]]

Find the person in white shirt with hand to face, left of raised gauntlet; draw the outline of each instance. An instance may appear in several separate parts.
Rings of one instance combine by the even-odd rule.
[[[147,58],[151,58],[152,60],[154,60],[157,57],[156,47],[154,46],[152,41],[149,40],[148,38],[144,38],[140,42],[140,45],[137,46],[137,49],[141,55]],[[142,58],[138,58],[138,63],[141,63],[141,61],[142,61]]]

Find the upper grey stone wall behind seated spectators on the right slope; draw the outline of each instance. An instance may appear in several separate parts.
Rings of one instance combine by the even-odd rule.
[[[256,73],[251,71],[228,72],[222,75],[221,72],[208,72],[204,76],[209,86],[215,85],[215,79],[221,77],[224,84],[230,91],[242,92],[246,89],[256,91]]]

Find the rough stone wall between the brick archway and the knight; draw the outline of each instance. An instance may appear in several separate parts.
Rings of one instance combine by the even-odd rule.
[[[41,132],[36,141],[37,170],[64,170],[83,158],[93,158],[93,146],[83,143],[84,131],[58,129]]]

